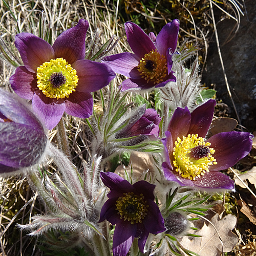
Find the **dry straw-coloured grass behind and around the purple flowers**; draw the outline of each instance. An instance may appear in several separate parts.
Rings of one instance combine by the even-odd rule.
[[[146,32],[152,30],[159,32],[159,27],[169,22],[170,19],[179,18],[183,20],[181,23],[180,44],[186,40],[188,47],[194,44],[200,45],[202,51],[198,57],[201,60],[202,67],[204,66],[207,56],[209,32],[212,31],[212,27],[210,26],[210,10],[205,7],[208,1],[202,1],[203,5],[201,9],[198,6],[199,1],[185,1],[191,3],[190,5],[181,4],[179,1],[166,1],[169,5],[173,5],[173,13],[167,12],[167,9],[166,11],[165,9],[160,9],[160,6],[158,6],[159,8],[151,9],[151,7],[142,6],[141,1],[129,2],[126,0],[118,6],[120,12],[116,13],[118,2],[114,1],[113,4],[112,1],[109,1],[107,4],[103,0],[65,0],[61,2],[56,0],[14,0],[7,1],[6,3],[2,0],[0,9],[0,17],[2,17],[0,19],[0,35],[3,40],[10,41],[13,45],[17,27],[20,31],[33,31],[34,34],[37,34],[39,18],[42,15],[45,20],[45,26],[51,26],[53,28],[53,38],[56,38],[62,31],[72,27],[72,23],[77,23],[80,18],[84,18],[90,24],[87,33],[87,46],[90,45],[92,38],[97,34],[95,51],[111,36],[121,37],[118,45],[111,52],[113,54],[129,51],[129,45],[127,45],[126,35],[123,29],[123,22],[126,20],[139,21],[140,24],[145,24]],[[163,2],[165,3],[165,1]],[[229,14],[229,12],[224,15],[231,15],[231,18],[236,19],[238,28],[240,12],[232,4],[232,1],[230,2],[229,8],[234,9],[234,12],[230,13],[235,13],[236,15],[234,16],[236,17]],[[197,12],[191,13],[193,10],[197,10]],[[200,19],[195,20],[193,17],[200,17]],[[11,90],[9,78],[13,71],[14,68],[7,62],[0,63],[1,87]],[[115,82],[120,84],[121,79],[119,76]],[[100,104],[96,102],[96,106],[100,111]],[[82,167],[82,161],[87,162],[91,159],[90,133],[88,132],[86,122],[83,120],[66,117],[65,121],[66,127],[68,128],[73,162],[80,168]],[[57,141],[55,131],[52,131],[49,137],[53,142]],[[49,164],[52,164],[51,160]],[[54,170],[54,166],[52,166],[52,170]],[[44,211],[44,205],[37,200],[36,193],[31,190],[26,178],[22,176],[1,179],[0,188],[0,244],[2,255],[43,255],[37,248],[38,241],[18,230],[16,224],[31,223],[31,217]]]

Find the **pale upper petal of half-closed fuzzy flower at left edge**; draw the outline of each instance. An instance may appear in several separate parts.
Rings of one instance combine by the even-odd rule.
[[[36,116],[31,112],[31,105],[22,101],[15,94],[0,89],[0,118],[8,118],[15,123],[25,124],[31,128],[44,132]]]

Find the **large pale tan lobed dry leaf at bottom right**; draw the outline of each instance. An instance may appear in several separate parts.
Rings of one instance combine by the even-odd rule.
[[[216,214],[210,221],[218,230],[223,245],[216,229],[210,223],[204,223],[204,226],[195,232],[202,237],[193,240],[183,237],[182,246],[200,256],[220,256],[222,247],[224,252],[231,251],[238,243],[238,237],[231,231],[237,223],[236,216],[229,214],[220,219]]]

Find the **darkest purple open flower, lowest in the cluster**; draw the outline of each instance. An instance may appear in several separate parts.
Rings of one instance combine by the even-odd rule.
[[[143,252],[149,233],[165,231],[164,220],[153,201],[155,185],[138,181],[133,185],[114,173],[100,173],[103,183],[110,188],[108,201],[100,212],[99,222],[105,219],[116,225],[113,255],[125,256],[134,238]]]

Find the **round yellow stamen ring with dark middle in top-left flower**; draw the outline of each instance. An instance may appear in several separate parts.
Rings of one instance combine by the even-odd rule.
[[[75,92],[76,70],[63,58],[51,59],[37,68],[37,87],[49,98],[63,99]]]

